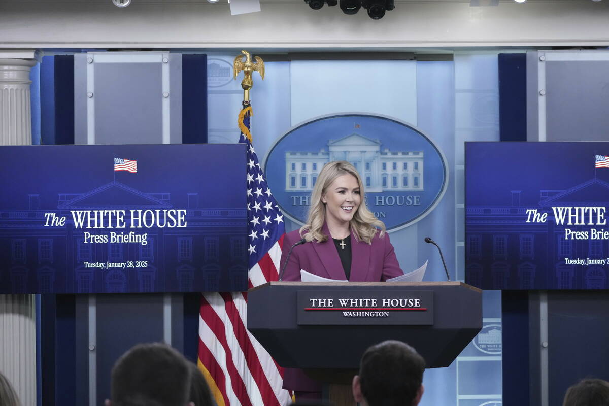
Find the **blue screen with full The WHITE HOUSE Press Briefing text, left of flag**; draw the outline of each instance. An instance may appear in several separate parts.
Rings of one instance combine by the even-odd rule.
[[[0,293],[247,290],[245,145],[0,147]]]

